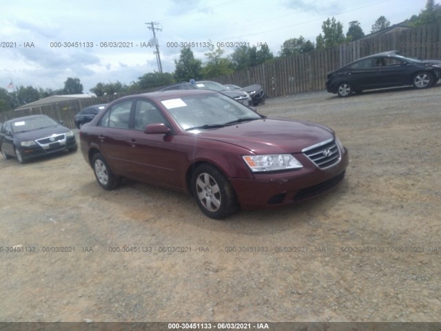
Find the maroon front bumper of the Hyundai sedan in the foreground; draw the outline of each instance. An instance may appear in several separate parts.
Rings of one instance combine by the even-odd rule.
[[[349,155],[325,170],[305,167],[278,174],[255,174],[254,179],[230,179],[243,210],[278,208],[327,192],[345,177]]]

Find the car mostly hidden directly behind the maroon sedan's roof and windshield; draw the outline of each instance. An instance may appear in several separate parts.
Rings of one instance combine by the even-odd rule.
[[[185,81],[181,83],[174,83],[163,88],[158,89],[158,91],[169,91],[169,90],[212,90],[225,94],[245,106],[253,106],[252,98],[247,92],[244,91],[233,91],[226,86],[216,82],[216,81],[195,81],[194,84],[186,83]]]

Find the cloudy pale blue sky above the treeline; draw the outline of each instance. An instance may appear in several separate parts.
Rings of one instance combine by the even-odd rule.
[[[438,2],[438,1],[437,1]],[[267,43],[274,55],[300,35],[313,42],[322,22],[336,17],[346,33],[359,21],[369,34],[383,15],[391,24],[424,9],[427,0],[0,0],[0,87],[63,88],[78,77],[88,92],[96,83],[130,84],[158,71],[154,48],[141,47],[155,28],[164,72],[173,72],[181,43],[205,61],[204,43]],[[107,47],[106,47],[107,43]],[[109,44],[126,48],[110,48]],[[8,46],[8,47],[7,47]],[[10,46],[10,47],[9,47]],[[57,47],[62,46],[62,47]],[[68,47],[64,47],[68,46]],[[70,47],[69,47],[70,46]],[[92,46],[92,47],[91,47]],[[177,46],[177,47],[174,47]],[[234,45],[233,45],[234,46]]]

